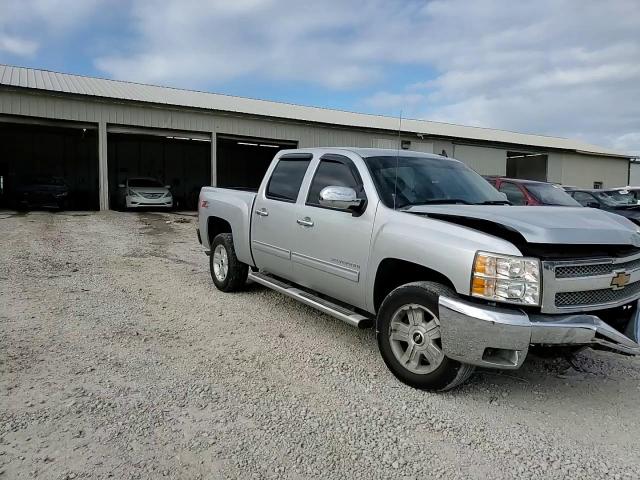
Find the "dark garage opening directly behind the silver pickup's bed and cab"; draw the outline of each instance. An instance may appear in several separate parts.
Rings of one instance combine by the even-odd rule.
[[[218,135],[216,184],[257,190],[275,154],[297,147],[295,141]]]

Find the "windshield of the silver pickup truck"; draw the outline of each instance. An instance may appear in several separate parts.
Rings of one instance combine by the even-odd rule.
[[[484,178],[457,160],[429,157],[367,157],[367,168],[387,207],[437,203],[507,204]],[[397,181],[396,181],[397,178]]]

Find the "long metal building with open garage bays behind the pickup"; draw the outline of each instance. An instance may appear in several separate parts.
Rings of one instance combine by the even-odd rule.
[[[627,185],[629,156],[579,141],[365,115],[0,65],[0,203],[24,173],[61,176],[77,208],[108,209],[128,176],[193,208],[202,185],[257,187],[282,148],[433,152],[483,175]]]

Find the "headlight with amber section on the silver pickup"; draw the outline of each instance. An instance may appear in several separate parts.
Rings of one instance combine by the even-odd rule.
[[[471,296],[519,305],[540,305],[540,260],[478,252]]]

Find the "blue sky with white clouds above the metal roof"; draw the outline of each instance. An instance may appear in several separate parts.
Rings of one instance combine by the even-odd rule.
[[[640,155],[640,0],[0,0],[0,63]]]

